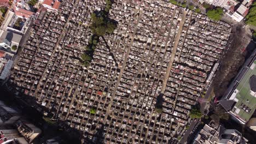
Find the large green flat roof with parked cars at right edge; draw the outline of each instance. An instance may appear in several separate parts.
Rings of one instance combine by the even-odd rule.
[[[256,60],[254,59],[236,87],[238,93],[236,94],[236,104],[234,107],[236,107],[238,113],[236,111],[235,113],[246,122],[249,121],[256,109],[256,93],[251,91],[249,84],[251,77],[256,75],[255,65]]]

